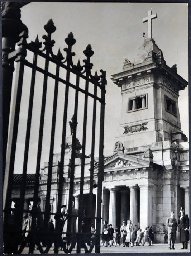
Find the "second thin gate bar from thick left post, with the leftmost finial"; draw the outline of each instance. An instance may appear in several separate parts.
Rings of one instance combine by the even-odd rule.
[[[51,34],[56,30],[53,31],[52,28],[44,26],[44,29],[47,32],[47,42],[51,42]],[[45,45],[46,49],[46,56],[48,57],[51,51],[49,44]],[[44,81],[43,81],[43,92],[42,92],[42,104],[41,104],[41,113],[40,113],[40,127],[39,127],[39,138],[38,138],[38,152],[37,152],[37,165],[36,165],[36,175],[35,175],[35,182],[34,182],[34,201],[33,201],[33,208],[37,208],[37,200],[38,200],[38,190],[39,190],[39,178],[40,178],[40,161],[41,161],[41,154],[42,154],[42,140],[43,140],[43,130],[44,130],[44,115],[45,115],[45,107],[46,107],[46,94],[47,94],[47,80],[48,80],[48,66],[49,60],[45,58],[45,74],[44,74]],[[35,218],[32,215],[32,224],[31,224],[31,233],[35,230]],[[32,234],[33,235],[33,234]],[[34,245],[33,242],[29,244],[29,253],[33,253]]]

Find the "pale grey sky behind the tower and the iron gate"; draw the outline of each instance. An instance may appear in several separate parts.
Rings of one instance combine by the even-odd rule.
[[[68,33],[72,32],[76,39],[73,51],[76,53],[73,61],[77,64],[78,59],[81,64],[85,56],[85,50],[88,44],[91,44],[94,55],[91,57],[91,63],[94,64],[92,74],[95,70],[103,69],[106,71],[106,105],[105,105],[105,131],[104,131],[104,149],[113,150],[116,142],[115,135],[119,125],[121,110],[121,93],[111,81],[111,75],[123,71],[123,62],[128,58],[134,62],[138,47],[144,43],[143,32],[147,35],[147,23],[142,19],[147,16],[147,11],[157,13],[157,19],[152,22],[153,39],[158,47],[163,51],[164,59],[169,67],[177,64],[177,73],[188,81],[188,6],[186,3],[56,3],[56,2],[31,2],[21,8],[21,20],[29,29],[29,38],[27,42],[34,41],[37,34],[39,41],[43,41],[42,36],[46,34],[44,25],[49,19],[52,19],[57,30],[52,34],[52,39],[56,41],[53,51],[57,54],[58,48],[65,56],[63,48],[66,47],[64,39]],[[39,64],[40,65],[40,64]],[[25,70],[26,74],[29,71]],[[42,77],[37,77],[42,82]],[[26,79],[26,80],[25,80]],[[51,83],[51,81],[50,81]],[[27,84],[27,77],[24,78],[24,84]],[[26,90],[26,92],[25,92]],[[39,91],[38,91],[39,90]],[[40,112],[40,86],[35,89],[35,100],[37,112]],[[49,89],[49,93],[53,93]],[[62,89],[59,91],[63,95]],[[23,95],[27,95],[27,89],[23,89]],[[179,111],[181,118],[182,131],[188,137],[188,87],[180,91]],[[71,100],[72,100],[72,94]],[[47,102],[51,109],[51,100]],[[83,101],[81,103],[83,105]],[[81,106],[82,106],[81,105]],[[23,100],[21,109],[26,108],[26,102]],[[62,116],[62,106],[58,106]],[[91,107],[90,107],[91,110]],[[48,113],[48,112],[47,112]],[[47,114],[47,127],[50,126]],[[72,116],[72,111],[68,118]],[[70,119],[70,118],[69,118]],[[69,120],[68,119],[68,120]],[[90,118],[91,119],[91,118]],[[26,114],[21,112],[19,125],[22,127],[26,120]],[[33,116],[34,133],[30,138],[29,159],[31,164],[28,166],[28,172],[35,172],[33,165],[33,156],[38,147],[38,114]],[[80,128],[80,122],[78,121]],[[57,122],[57,126],[59,123]],[[15,160],[15,172],[21,172],[24,129],[18,134],[18,145]],[[68,128],[68,135],[69,128]],[[58,133],[57,133],[58,134]],[[55,138],[54,153],[60,152],[61,137]],[[81,134],[77,134],[82,143]],[[48,134],[43,136],[43,153],[41,166],[43,162],[48,162],[47,143]],[[87,152],[88,155],[88,146]],[[90,150],[89,150],[90,151]]]

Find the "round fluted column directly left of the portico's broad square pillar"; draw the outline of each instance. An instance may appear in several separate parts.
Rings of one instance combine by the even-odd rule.
[[[132,223],[137,225],[137,186],[130,188],[130,219]]]

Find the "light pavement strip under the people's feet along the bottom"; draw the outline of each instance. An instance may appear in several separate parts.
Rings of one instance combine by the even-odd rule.
[[[120,246],[111,246],[104,247],[101,245],[100,253],[108,254],[108,253],[188,253],[190,252],[190,246],[188,244],[187,250],[181,250],[182,243],[175,243],[175,250],[169,250],[168,244],[157,243],[153,244],[153,246],[148,246],[145,244],[144,246],[134,246],[134,247],[123,247]],[[76,253],[76,248],[71,252],[71,254]],[[84,253],[84,250],[81,250],[81,253]],[[95,247],[92,250],[92,253],[95,253]],[[28,254],[28,247],[25,247],[22,254]],[[34,250],[34,254],[39,254],[38,250]],[[54,248],[52,247],[48,254],[54,254]],[[63,251],[59,251],[59,254],[63,254]]]

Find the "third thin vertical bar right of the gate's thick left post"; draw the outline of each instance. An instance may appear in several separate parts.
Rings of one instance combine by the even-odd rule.
[[[59,51],[58,51],[58,54],[59,54]],[[59,76],[59,68],[60,68],[59,65],[57,65],[56,66],[57,77]],[[53,153],[54,153],[57,99],[58,99],[58,80],[55,80],[54,100],[53,100],[53,110],[52,110],[51,141],[50,141],[50,151],[49,151],[49,161],[48,161],[47,191],[46,191],[46,202],[45,202],[45,210],[44,210],[46,212],[44,214],[44,230],[47,230],[48,228],[49,212],[50,212],[49,205],[50,205],[50,195],[51,195],[51,181],[52,181],[52,168],[53,168],[52,163],[53,163]]]

